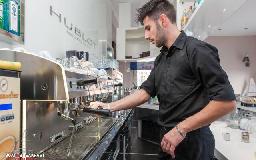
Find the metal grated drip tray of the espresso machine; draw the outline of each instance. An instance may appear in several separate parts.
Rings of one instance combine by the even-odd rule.
[[[90,122],[77,132],[75,132],[72,142],[71,153],[66,156],[66,151],[70,142],[68,136],[64,140],[58,142],[44,152],[43,158],[36,158],[41,160],[76,160],[82,159],[81,155],[86,156],[90,150],[94,149],[102,136],[106,134],[108,129],[116,122],[118,118],[97,118]]]

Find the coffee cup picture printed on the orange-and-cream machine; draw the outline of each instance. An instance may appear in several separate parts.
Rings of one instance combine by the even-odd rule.
[[[0,140],[0,160],[6,160],[8,157],[5,154],[13,154],[19,138],[15,139],[13,136],[7,136]]]

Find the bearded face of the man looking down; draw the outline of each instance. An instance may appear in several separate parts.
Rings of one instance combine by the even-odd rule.
[[[143,20],[145,39],[150,40],[156,47],[164,46],[166,42],[165,31],[157,21],[146,16]]]

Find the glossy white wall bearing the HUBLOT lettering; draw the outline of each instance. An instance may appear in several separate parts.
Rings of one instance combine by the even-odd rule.
[[[50,6],[53,12],[61,14],[61,22],[54,13],[50,15]],[[111,44],[111,14],[110,0],[25,0],[25,45],[0,43],[0,48],[21,46],[32,52],[48,50],[54,58],[64,57],[67,50],[97,54],[98,40],[108,40]],[[72,30],[65,26],[64,17],[68,27],[73,24]]]

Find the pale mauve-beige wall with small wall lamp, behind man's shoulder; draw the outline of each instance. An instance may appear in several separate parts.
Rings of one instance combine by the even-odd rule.
[[[205,42],[218,48],[220,65],[228,74],[234,92],[242,94],[250,76],[256,80],[256,36],[208,37]],[[250,67],[245,67],[242,62],[246,54]]]

